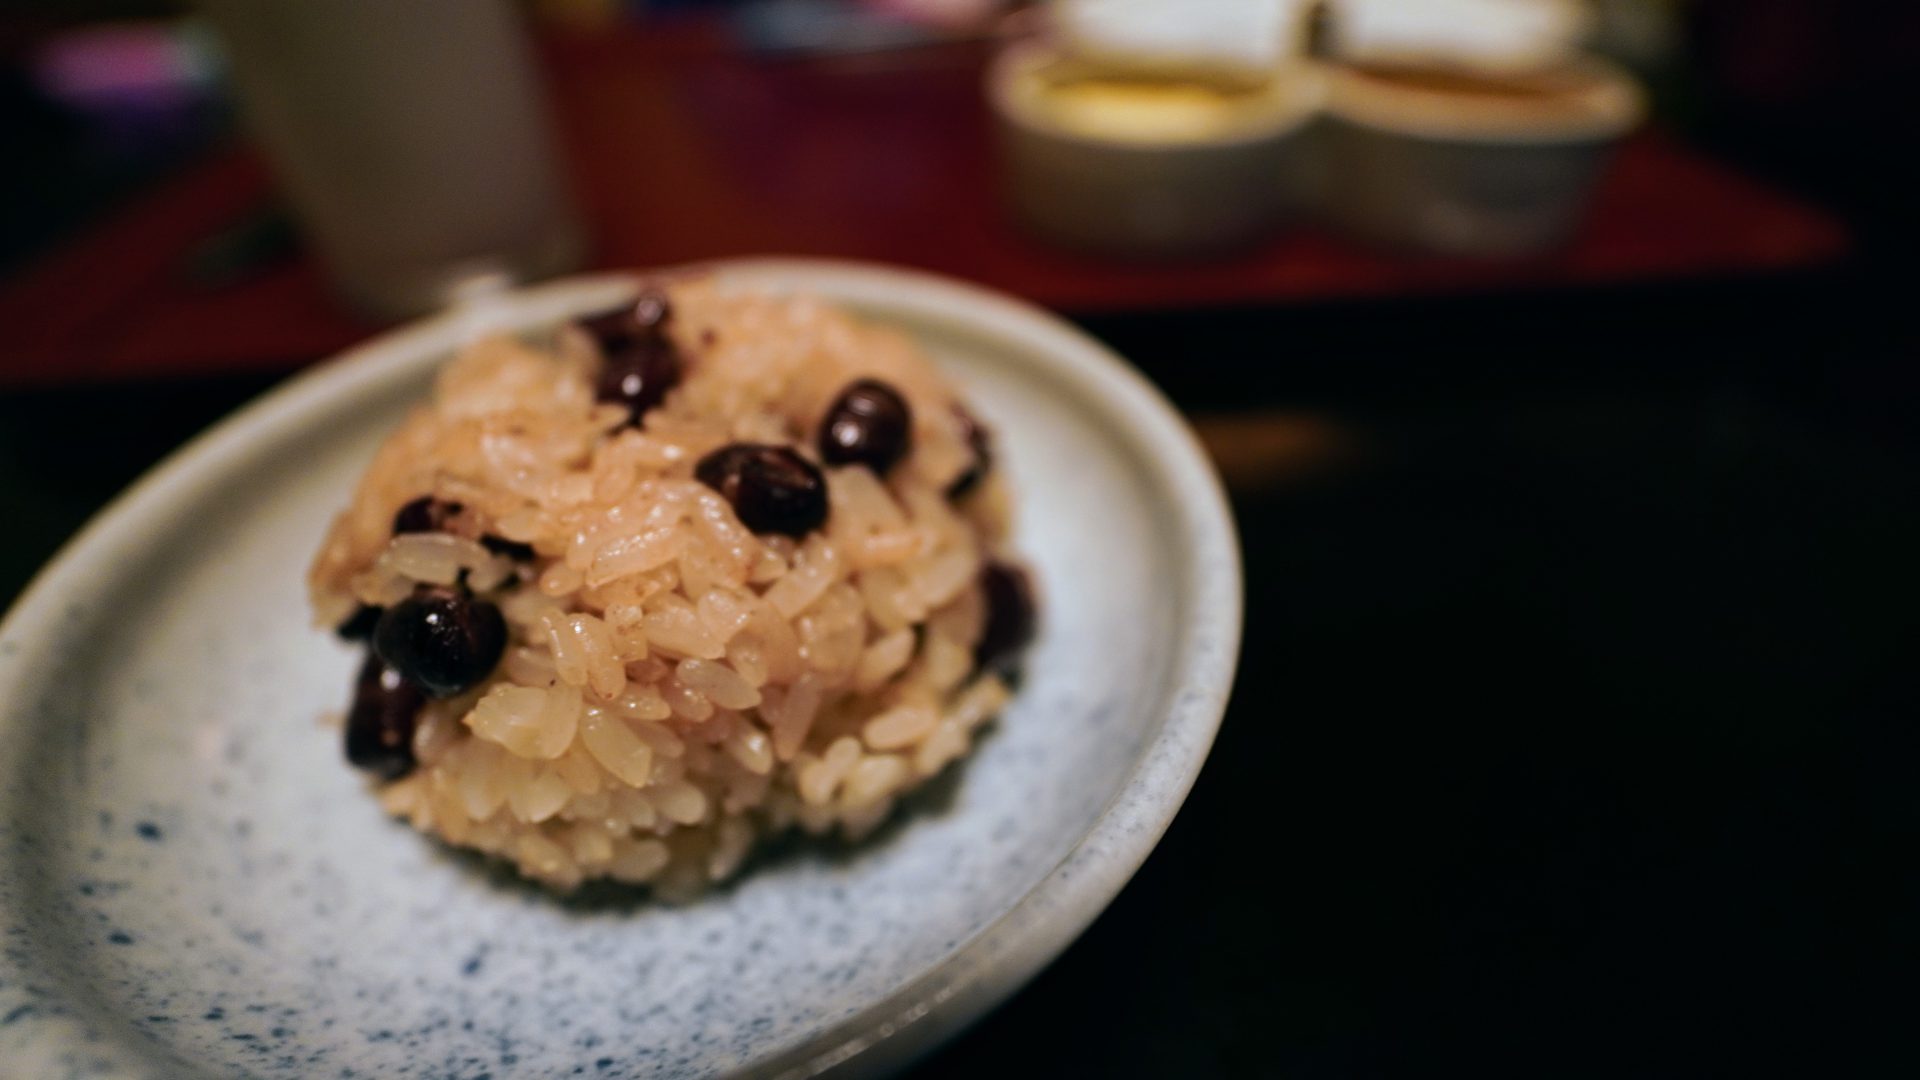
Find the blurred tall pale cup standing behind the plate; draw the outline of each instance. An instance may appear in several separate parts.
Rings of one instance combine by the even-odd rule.
[[[353,306],[401,317],[582,254],[509,0],[198,0]]]

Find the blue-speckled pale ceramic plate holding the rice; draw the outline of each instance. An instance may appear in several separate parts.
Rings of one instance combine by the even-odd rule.
[[[1188,430],[1002,296],[849,263],[718,273],[916,334],[995,423],[1044,586],[1027,680],[864,846],[791,844],[687,907],[555,899],[380,815],[319,717],[353,655],[301,575],[463,336],[618,277],[386,334],[198,438],[0,625],[0,1076],[883,1072],[1002,999],[1125,884],[1206,757],[1240,573]]]

